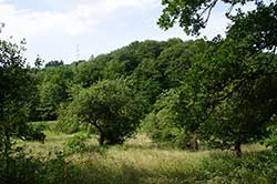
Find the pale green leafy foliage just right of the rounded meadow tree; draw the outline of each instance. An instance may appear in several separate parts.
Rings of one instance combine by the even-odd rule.
[[[157,142],[171,142],[182,149],[198,150],[201,105],[189,85],[163,93],[144,121],[144,130]]]

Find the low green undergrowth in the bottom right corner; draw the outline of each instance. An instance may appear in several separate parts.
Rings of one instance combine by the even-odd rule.
[[[202,171],[209,183],[275,183],[277,160],[274,153],[250,153],[243,159],[212,155]]]

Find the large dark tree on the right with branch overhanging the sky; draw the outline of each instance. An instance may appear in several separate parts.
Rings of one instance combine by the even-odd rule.
[[[205,28],[209,14],[218,0],[164,0],[165,9],[160,25],[168,29],[177,21],[188,34],[198,34]],[[238,0],[224,3],[230,6],[226,12],[232,24],[226,38],[212,41],[199,62],[198,73],[207,101],[203,111],[202,127],[206,140],[219,143],[220,147],[234,146],[242,154],[240,145],[266,133],[266,126],[277,112],[276,43],[277,2],[265,4],[263,0]],[[256,9],[243,12],[234,6],[254,2]],[[205,17],[206,16],[206,17]],[[204,114],[205,114],[204,113]]]

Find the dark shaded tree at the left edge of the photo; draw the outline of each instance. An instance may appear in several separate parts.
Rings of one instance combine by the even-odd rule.
[[[28,124],[29,104],[35,89],[23,67],[22,50],[21,45],[0,40],[0,156],[6,161],[7,177],[13,152],[12,139],[44,139],[44,134]]]

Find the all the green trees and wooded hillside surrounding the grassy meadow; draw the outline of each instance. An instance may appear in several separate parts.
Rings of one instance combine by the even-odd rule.
[[[223,2],[233,8],[247,1]],[[179,23],[187,34],[197,35],[216,3],[164,0],[158,24],[170,29]],[[247,12],[226,12],[232,24],[224,37],[134,41],[71,64],[44,63],[38,58],[35,67],[27,67],[24,42],[0,40],[0,178],[3,183],[28,183],[30,176],[45,182],[48,174],[62,173],[66,156],[58,154],[50,163],[43,162],[53,168],[40,168],[42,161],[28,157],[17,143],[45,141],[45,125],[35,122],[54,121],[57,132],[72,135],[85,131],[104,149],[145,134],[155,145],[182,152],[230,151],[232,163],[243,163],[236,168],[256,175],[263,170],[264,174],[258,178],[242,173],[229,175],[235,183],[276,183],[277,2],[260,0],[255,6]],[[75,136],[80,141],[76,146],[83,145],[82,139]],[[254,161],[242,151],[249,144],[264,145]],[[215,168],[204,166],[212,174],[201,173],[197,180],[213,183],[219,177],[214,183],[220,183],[216,167],[227,162],[217,164]],[[28,166],[41,173],[32,176],[23,170]],[[228,170],[233,170],[230,163]],[[57,181],[62,183],[58,176]]]

